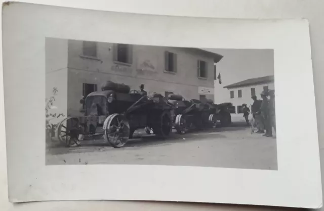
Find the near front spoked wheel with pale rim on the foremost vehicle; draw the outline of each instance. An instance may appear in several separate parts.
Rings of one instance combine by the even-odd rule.
[[[121,114],[107,117],[103,125],[104,139],[114,148],[123,147],[130,136],[130,124]]]

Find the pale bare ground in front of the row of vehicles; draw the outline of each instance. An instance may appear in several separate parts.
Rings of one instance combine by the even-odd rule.
[[[83,142],[73,148],[52,146],[46,165],[135,164],[203,166],[277,170],[276,139],[250,134],[243,122],[185,135],[173,133],[167,140],[134,134],[124,148],[112,148],[103,140]]]

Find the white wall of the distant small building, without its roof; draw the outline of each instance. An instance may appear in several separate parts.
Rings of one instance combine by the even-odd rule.
[[[253,100],[251,98],[252,97],[251,88],[255,88],[255,95],[257,96],[258,99],[261,99],[260,94],[263,91],[264,86],[268,86],[268,89],[274,89],[274,83],[263,83],[259,85],[251,85],[251,86],[226,89],[227,93],[225,96],[227,96],[227,99],[225,99],[225,101],[233,103],[237,113],[237,105],[242,105],[243,103],[246,103],[249,107],[253,103]],[[242,92],[241,97],[238,97],[238,90],[241,90]],[[230,97],[231,91],[234,92],[234,98]]]

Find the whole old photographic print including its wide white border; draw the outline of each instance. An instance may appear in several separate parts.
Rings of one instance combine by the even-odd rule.
[[[10,202],[321,204],[307,20],[10,3],[2,26]]]

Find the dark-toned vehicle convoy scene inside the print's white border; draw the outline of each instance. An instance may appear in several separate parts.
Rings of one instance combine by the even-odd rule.
[[[46,164],[277,170],[272,49],[46,38]]]

